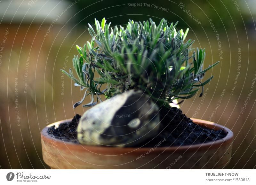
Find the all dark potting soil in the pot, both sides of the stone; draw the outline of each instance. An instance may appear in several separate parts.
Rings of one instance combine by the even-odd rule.
[[[80,118],[81,116],[76,114],[71,122],[62,123],[56,129],[54,126],[50,127],[48,133],[55,139],[78,143],[76,127]],[[193,123],[180,109],[175,107],[171,109],[163,107],[160,110],[160,120],[161,126],[158,135],[140,146],[164,147],[200,144],[219,140],[228,134],[223,130],[213,130]]]

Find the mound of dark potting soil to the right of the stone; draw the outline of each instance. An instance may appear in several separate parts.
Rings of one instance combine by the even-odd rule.
[[[219,140],[228,133],[193,123],[180,109],[163,107],[160,114],[159,134],[148,140],[144,147],[183,146]],[[162,142],[161,142],[162,141]],[[159,143],[160,142],[160,143]]]

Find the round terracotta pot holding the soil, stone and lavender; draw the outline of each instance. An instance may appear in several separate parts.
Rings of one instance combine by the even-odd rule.
[[[80,145],[47,133],[48,127],[66,121],[71,119],[48,125],[41,132],[43,159],[52,169],[219,169],[231,158],[233,132],[210,121],[193,119],[201,126],[223,129],[227,136],[209,143],[153,149]]]

